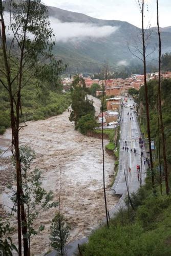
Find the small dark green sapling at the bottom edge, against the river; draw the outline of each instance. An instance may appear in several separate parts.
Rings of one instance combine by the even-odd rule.
[[[65,255],[65,245],[69,240],[69,227],[62,214],[56,214],[50,226],[50,246],[57,250],[57,255]]]

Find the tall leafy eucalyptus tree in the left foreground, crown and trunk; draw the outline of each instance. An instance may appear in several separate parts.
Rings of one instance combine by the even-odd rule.
[[[11,150],[16,162],[18,254],[22,255],[23,233],[24,255],[29,255],[19,152],[19,131],[26,126],[25,123],[19,124],[22,120],[22,89],[34,73],[35,67],[41,66],[42,62],[53,61],[56,72],[62,62],[54,61],[52,49],[55,45],[55,37],[50,28],[46,6],[41,4],[40,0],[9,0],[7,5],[10,17],[8,40],[2,0],[0,0],[1,44],[4,57],[0,73],[5,76],[5,79],[0,79],[0,82],[7,90],[10,101]],[[26,76],[27,73],[30,74],[29,77]],[[57,75],[58,73],[56,73]]]

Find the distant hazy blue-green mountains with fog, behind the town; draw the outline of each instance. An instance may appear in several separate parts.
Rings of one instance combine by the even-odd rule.
[[[69,64],[69,72],[94,73],[106,61],[115,69],[141,63],[130,52],[141,58],[140,28],[127,22],[97,19],[56,7],[48,7],[48,10],[56,36],[54,54]],[[146,55],[153,52],[147,63],[155,66],[158,57],[156,27],[148,29],[146,34],[151,34]],[[170,52],[171,27],[161,28],[161,39],[162,53]]]

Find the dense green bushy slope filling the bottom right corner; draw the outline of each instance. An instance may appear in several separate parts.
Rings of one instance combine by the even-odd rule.
[[[97,229],[84,245],[84,256],[170,255],[171,198],[161,196],[159,187],[154,195],[147,184],[132,195],[136,210],[121,209],[109,229]]]

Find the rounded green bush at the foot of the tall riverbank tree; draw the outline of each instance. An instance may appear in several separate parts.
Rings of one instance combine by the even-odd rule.
[[[82,134],[87,134],[88,131],[93,131],[97,126],[97,120],[94,115],[91,114],[81,116],[78,120],[78,129]]]

